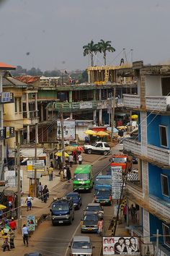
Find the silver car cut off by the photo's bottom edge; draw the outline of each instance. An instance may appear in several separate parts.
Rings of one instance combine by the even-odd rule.
[[[89,236],[74,236],[69,247],[72,256],[91,256],[94,248]]]

